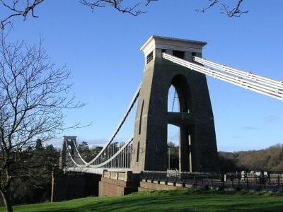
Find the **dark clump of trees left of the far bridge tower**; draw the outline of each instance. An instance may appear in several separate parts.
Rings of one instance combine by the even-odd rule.
[[[32,204],[50,199],[51,172],[57,172],[59,151],[54,146],[42,146],[37,139],[34,147],[15,151],[11,166],[11,204]],[[16,160],[17,160],[16,159]],[[4,204],[1,199],[1,204]]]

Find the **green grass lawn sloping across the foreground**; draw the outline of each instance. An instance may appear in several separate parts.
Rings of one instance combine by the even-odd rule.
[[[5,211],[5,208],[0,208]],[[283,211],[283,195],[270,192],[162,191],[88,197],[14,206],[14,211]]]

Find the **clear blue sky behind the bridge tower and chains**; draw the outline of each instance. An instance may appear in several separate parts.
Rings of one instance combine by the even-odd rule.
[[[35,11],[40,18],[13,20],[10,38],[33,45],[42,37],[57,66],[67,64],[76,98],[87,105],[67,112],[66,123],[93,124],[66,135],[100,145],[111,136],[141,81],[144,55],[139,48],[151,35],[206,41],[204,58],[283,81],[283,1],[246,0],[243,9],[249,13],[241,18],[222,15],[219,7],[195,12],[204,3],[154,1],[144,8],[146,13],[134,17],[112,8],[92,13],[79,1],[45,1]],[[207,81],[219,151],[283,143],[282,101],[214,78]],[[132,129],[133,123],[127,123],[118,139],[127,139]]]

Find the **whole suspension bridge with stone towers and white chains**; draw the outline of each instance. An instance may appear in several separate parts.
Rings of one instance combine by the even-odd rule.
[[[165,171],[167,125],[179,127],[179,170],[217,170],[217,148],[206,76],[270,98],[283,100],[283,82],[202,59],[206,42],[151,36],[141,47],[144,74],[129,107],[108,143],[91,161],[81,157],[75,136],[64,136],[60,167],[65,172]],[[168,112],[168,90],[178,96],[178,112]],[[115,138],[137,105],[134,132],[127,141]]]

